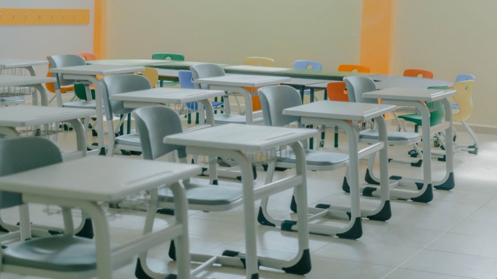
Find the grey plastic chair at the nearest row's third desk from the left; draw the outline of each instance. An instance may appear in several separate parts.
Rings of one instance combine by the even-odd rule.
[[[283,110],[286,108],[296,107],[302,105],[299,92],[288,85],[274,85],[259,88],[258,95],[260,97],[260,104],[262,107],[262,115],[264,118],[265,126],[286,126],[290,123],[297,122],[299,127],[300,117],[284,115]],[[321,150],[305,149],[307,169],[309,170],[335,170],[344,167],[348,164],[348,154],[328,152]],[[275,167],[278,168],[294,168],[295,156],[290,150],[280,150],[274,154],[277,158],[269,164],[267,168],[266,181],[268,184],[272,181]],[[267,199],[261,202],[262,212],[267,216],[265,207],[267,206]],[[292,197],[291,209],[296,211],[295,199]]]

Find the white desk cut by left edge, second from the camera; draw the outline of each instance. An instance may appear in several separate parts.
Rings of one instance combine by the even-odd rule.
[[[0,134],[10,138],[19,137],[16,127],[31,127],[54,122],[68,121],[76,131],[77,151],[65,153],[72,159],[86,155],[86,135],[79,120],[95,114],[92,109],[73,109],[41,106],[9,106],[0,109]],[[57,129],[57,128],[56,128]]]

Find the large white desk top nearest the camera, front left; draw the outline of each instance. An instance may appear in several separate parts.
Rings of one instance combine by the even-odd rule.
[[[126,195],[200,174],[200,171],[199,166],[192,164],[88,156],[0,177],[0,190],[114,202]],[[85,175],[87,173],[91,175]]]

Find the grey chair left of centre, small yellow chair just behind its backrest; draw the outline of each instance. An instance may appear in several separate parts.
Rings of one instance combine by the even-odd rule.
[[[114,148],[121,149],[122,154],[128,154],[129,151],[141,151],[140,137],[138,134],[127,134],[115,137],[114,124],[112,118],[114,114],[121,116],[121,121],[117,127],[124,122],[125,116],[130,114],[133,109],[127,109],[123,106],[123,101],[110,100],[109,97],[114,94],[125,92],[150,89],[149,80],[138,74],[116,74],[105,76],[100,79],[102,89],[103,106],[105,109],[105,119],[109,131],[109,149],[108,154],[112,156]],[[130,118],[128,118],[128,125]]]

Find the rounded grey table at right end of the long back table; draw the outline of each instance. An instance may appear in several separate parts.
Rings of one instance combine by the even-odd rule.
[[[433,79],[414,76],[375,74],[370,75],[376,84],[376,89],[385,89],[389,87],[408,87],[408,88],[428,88],[430,86],[447,86],[452,87],[453,83]]]

